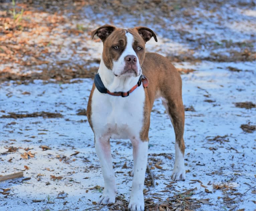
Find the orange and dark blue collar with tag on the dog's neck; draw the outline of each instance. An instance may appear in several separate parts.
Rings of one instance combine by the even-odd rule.
[[[112,96],[122,96],[124,98],[124,97],[128,97],[129,94],[132,93],[141,84],[143,85],[143,87],[147,87],[148,79],[144,75],[141,75],[138,83],[135,86],[133,86],[128,92],[110,92],[102,83],[101,77],[98,73],[94,77],[94,84],[100,93],[109,94]]]

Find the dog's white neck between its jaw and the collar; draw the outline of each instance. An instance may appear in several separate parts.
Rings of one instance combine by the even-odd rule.
[[[98,73],[102,83],[110,92],[128,92],[134,85],[138,83],[138,77],[133,76],[114,76],[112,70],[109,70],[101,59]]]

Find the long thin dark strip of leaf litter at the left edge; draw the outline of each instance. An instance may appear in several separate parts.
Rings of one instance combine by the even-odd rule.
[[[61,118],[63,117],[60,113],[51,113],[51,112],[34,112],[34,113],[26,113],[26,114],[19,114],[19,113],[12,113],[9,112],[10,115],[2,115],[0,118],[26,118],[26,117],[43,117],[43,118]]]

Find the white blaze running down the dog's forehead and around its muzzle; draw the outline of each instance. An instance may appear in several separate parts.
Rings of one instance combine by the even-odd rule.
[[[136,56],[136,59],[137,59],[137,62],[136,62],[137,63],[136,64],[137,65],[137,69],[138,69],[138,71],[140,71],[139,58],[137,57],[136,52],[132,48],[133,35],[128,32],[128,33],[125,34],[125,36],[126,36],[126,40],[127,40],[125,50],[122,53],[122,55],[119,57],[119,59],[117,61],[113,62],[113,73],[114,73],[114,75],[117,75],[117,76],[120,76],[120,74],[124,71],[124,67],[125,67],[125,60],[124,60],[124,58],[127,55],[134,55],[134,56]]]

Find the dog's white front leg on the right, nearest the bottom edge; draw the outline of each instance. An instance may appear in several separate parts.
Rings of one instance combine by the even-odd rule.
[[[128,208],[131,211],[144,211],[143,187],[147,167],[148,142],[136,139],[131,141],[133,146],[134,174]]]

